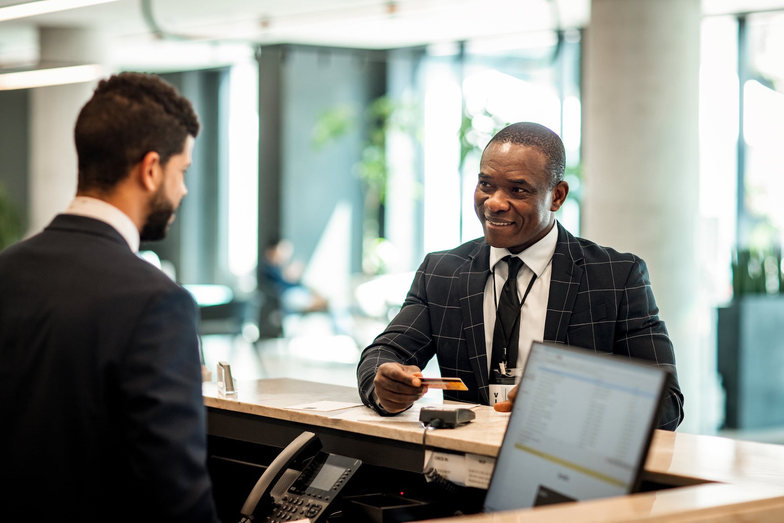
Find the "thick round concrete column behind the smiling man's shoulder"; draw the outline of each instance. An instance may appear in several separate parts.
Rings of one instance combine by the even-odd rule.
[[[641,256],[675,345],[685,432],[710,432],[715,341],[699,290],[700,0],[592,0],[586,30],[586,238]]]

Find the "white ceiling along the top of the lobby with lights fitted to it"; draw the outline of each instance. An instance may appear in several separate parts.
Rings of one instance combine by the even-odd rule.
[[[143,16],[149,2],[156,38]],[[20,0],[0,0],[0,7]],[[784,9],[784,0],[703,0],[706,14]],[[585,27],[590,0],[118,0],[0,22],[0,67],[38,60],[37,27],[89,27],[118,67],[209,67],[257,43],[366,49]]]

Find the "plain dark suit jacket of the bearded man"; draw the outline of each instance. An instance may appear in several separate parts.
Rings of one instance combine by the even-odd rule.
[[[217,521],[197,311],[107,223],[0,252],[8,521]]]

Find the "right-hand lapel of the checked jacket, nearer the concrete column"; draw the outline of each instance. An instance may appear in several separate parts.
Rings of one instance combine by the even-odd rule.
[[[553,271],[550,276],[544,340],[565,343],[569,320],[572,318],[577,292],[583,280],[583,267],[579,265],[583,260],[583,249],[561,223],[557,223],[557,227],[558,243],[555,245]]]

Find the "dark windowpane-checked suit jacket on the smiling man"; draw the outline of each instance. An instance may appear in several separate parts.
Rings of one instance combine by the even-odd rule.
[[[557,227],[544,341],[642,358],[671,370],[659,428],[675,430],[683,419],[683,394],[644,261]],[[357,376],[365,405],[385,413],[371,401],[379,365],[396,361],[423,369],[434,355],[442,376],[457,376],[469,389],[445,391],[445,399],[489,404],[483,319],[489,253],[485,238],[477,238],[425,257],[401,311],[362,353]]]

